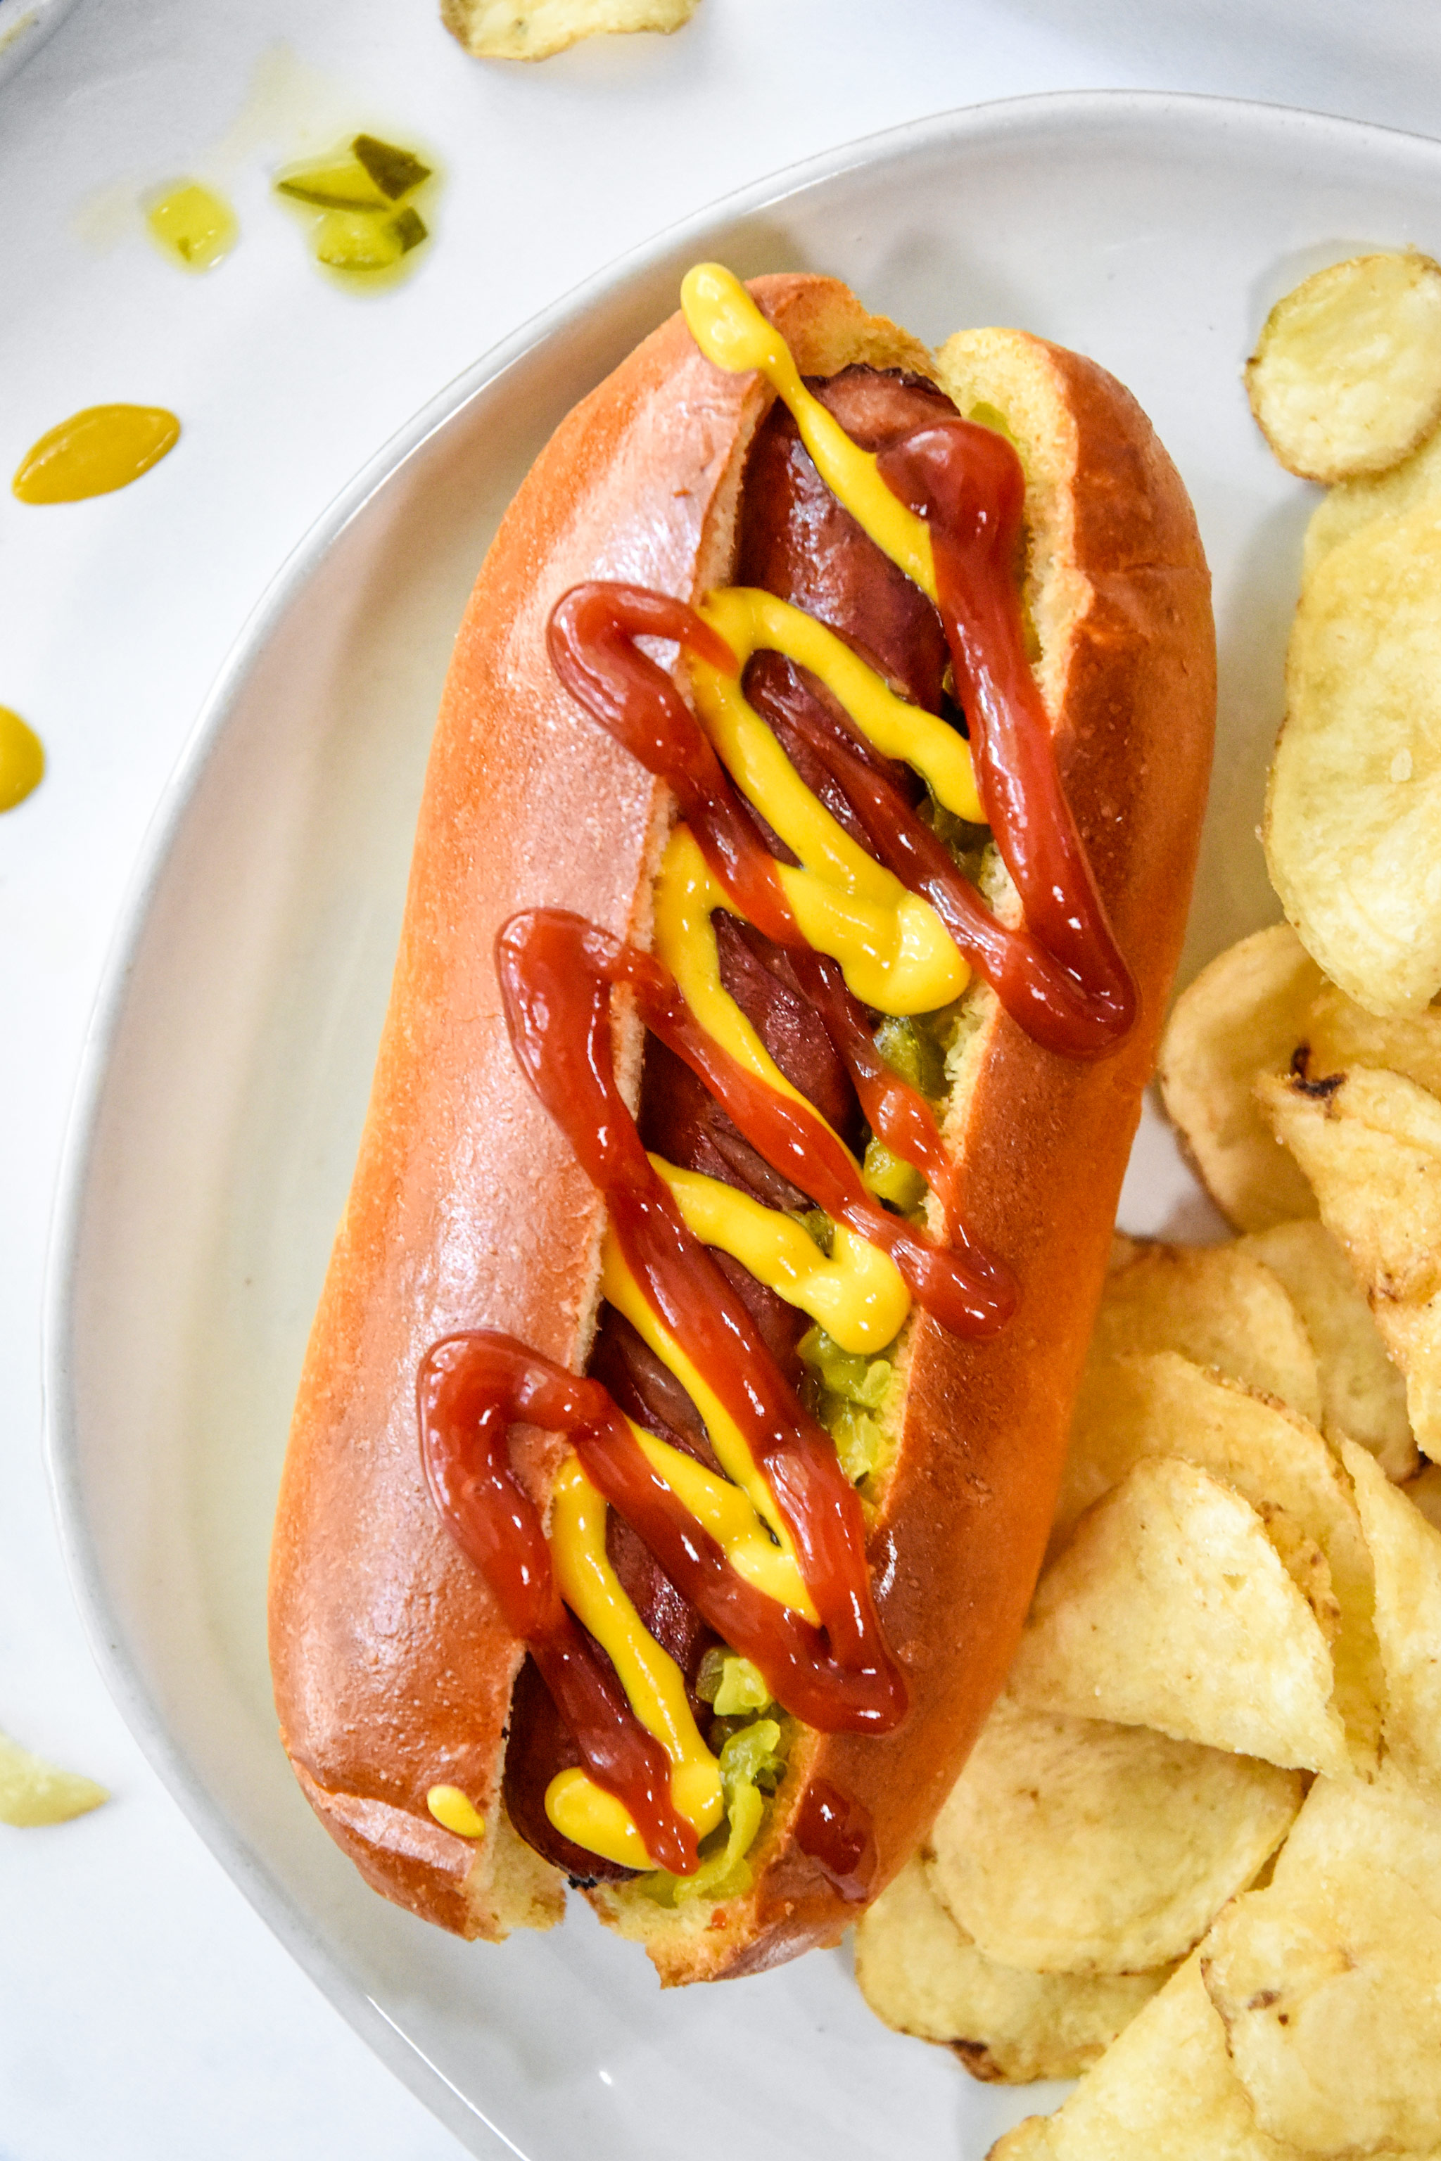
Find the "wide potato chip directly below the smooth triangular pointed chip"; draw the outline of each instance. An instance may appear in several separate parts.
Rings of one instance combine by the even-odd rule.
[[[1002,1696],[931,1830],[931,1882],[987,1958],[1145,1973],[1184,1958],[1301,1807],[1298,1772]]]

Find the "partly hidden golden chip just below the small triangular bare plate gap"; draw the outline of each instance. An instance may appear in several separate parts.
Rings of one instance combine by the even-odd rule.
[[[1234,1245],[1143,1245],[1106,1279],[1091,1361],[1180,1351],[1320,1420],[1316,1351],[1281,1281]]]

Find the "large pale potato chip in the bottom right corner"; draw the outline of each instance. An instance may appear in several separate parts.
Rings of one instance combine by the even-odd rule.
[[[1398,1785],[1331,1787],[1266,1891],[1201,1945],[1264,2131],[1305,2152],[1441,2144],[1441,1813]]]

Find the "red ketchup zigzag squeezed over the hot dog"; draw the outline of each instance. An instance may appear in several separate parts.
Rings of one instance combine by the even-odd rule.
[[[786,717],[853,806],[877,860],[935,908],[1007,1014],[1061,1057],[1104,1057],[1130,1031],[1136,992],[1065,802],[1050,722],[1026,661],[1013,577],[1024,510],[1020,460],[1005,437],[944,419],[881,452],[879,471],[931,532],[977,784],[1024,925],[996,921],[845,728],[806,700]],[[745,1435],[795,1541],[821,1625],[737,1575],[650,1469],[598,1381],[562,1372],[512,1338],[452,1335],[426,1353],[419,1377],[426,1476],[449,1532],[486,1575],[506,1625],[527,1642],[590,1776],[631,1811],[655,1865],[689,1874],[696,1835],[672,1804],[665,1750],[639,1724],[609,1660],[560,1599],[540,1517],[510,1469],[512,1422],[570,1437],[590,1480],[696,1612],[760,1668],[776,1701],[806,1724],[825,1733],[892,1731],[905,1716],[905,1683],[875,1614],[860,1498],[836,1448],[782,1377],[741,1299],[687,1232],[620,1098],[611,988],[631,990],[644,1024],[704,1080],[773,1169],[892,1256],[916,1303],[946,1329],[987,1335],[1005,1327],[1015,1286],[998,1260],[968,1240],[929,1104],[879,1059],[840,968],[802,938],[758,826],[704,728],[637,637],[674,640],[737,672],[724,640],[683,601],[607,583],[577,586],[557,605],[551,661],[585,711],[674,789],[737,914],[786,949],[871,1128],[942,1195],[951,1234],[946,1249],[888,1214],[823,1119],[756,1080],[713,1042],[655,957],[564,910],[536,910],[506,925],[497,975],[516,1057],[603,1193],[648,1305]],[[797,1845],[843,1897],[866,1897],[875,1839],[858,1802],[817,1783],[797,1820]]]

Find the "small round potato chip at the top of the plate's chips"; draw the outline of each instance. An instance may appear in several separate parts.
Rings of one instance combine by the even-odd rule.
[[[1247,393],[1290,473],[1385,473],[1441,419],[1441,268],[1406,253],[1318,270],[1266,318]]]

